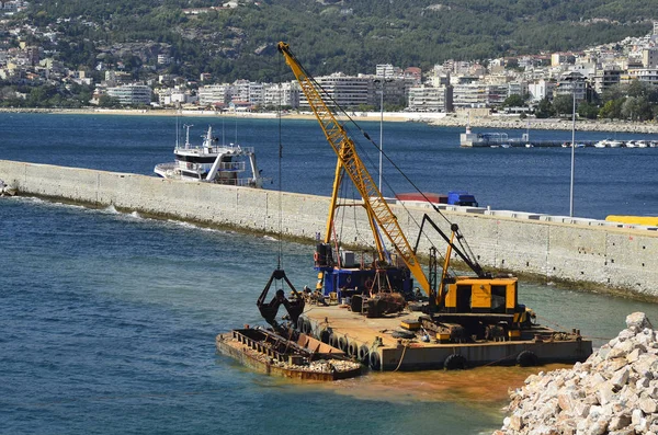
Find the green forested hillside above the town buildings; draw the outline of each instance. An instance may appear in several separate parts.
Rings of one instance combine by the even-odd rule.
[[[286,41],[315,75],[374,72],[377,64],[430,68],[449,58],[487,59],[576,50],[647,34],[656,0],[263,0],[220,7],[206,0],[42,0],[30,20],[55,25],[68,66],[93,68],[118,43],[166,43],[172,73],[273,80]],[[110,50],[111,51],[111,50]],[[124,64],[144,62],[121,55]],[[107,58],[104,58],[107,60]]]

